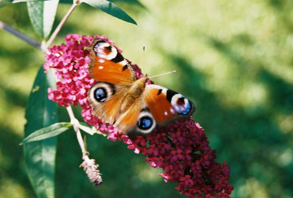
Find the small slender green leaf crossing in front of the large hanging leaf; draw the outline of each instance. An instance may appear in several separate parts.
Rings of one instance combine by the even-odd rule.
[[[39,141],[39,140],[57,136],[63,133],[64,131],[67,131],[71,127],[72,127],[72,124],[70,124],[70,122],[59,122],[59,123],[52,124],[49,127],[45,127],[33,132],[32,134],[27,136],[21,142],[21,144],[25,144],[25,143],[33,142],[33,141]]]

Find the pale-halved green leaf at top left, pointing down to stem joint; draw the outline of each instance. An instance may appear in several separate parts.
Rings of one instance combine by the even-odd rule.
[[[13,3],[27,0],[14,0]],[[30,0],[29,0],[30,1]],[[52,30],[59,0],[27,2],[28,14],[35,32],[47,39]]]

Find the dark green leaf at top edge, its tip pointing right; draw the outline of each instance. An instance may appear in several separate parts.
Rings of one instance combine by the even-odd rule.
[[[123,21],[133,23],[137,25],[137,23],[131,18],[128,14],[126,14],[121,8],[116,6],[115,4],[106,1],[106,0],[82,0],[84,3],[87,3],[94,8],[98,8],[101,11],[115,16]]]

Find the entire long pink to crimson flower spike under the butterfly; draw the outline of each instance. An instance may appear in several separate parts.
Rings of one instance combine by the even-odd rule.
[[[95,37],[107,40],[104,35]],[[48,89],[49,99],[61,106],[80,104],[81,115],[87,124],[95,126],[100,132],[109,133],[108,139],[122,140],[135,153],[142,153],[152,167],[163,168],[165,173],[159,175],[166,182],[177,181],[176,189],[180,193],[188,197],[229,197],[233,190],[227,182],[229,166],[225,161],[223,165],[214,161],[216,151],[208,146],[204,130],[193,119],[182,119],[167,127],[157,127],[153,134],[146,137],[129,139],[113,125],[91,115],[87,91],[96,81],[88,73],[90,59],[86,46],[90,45],[93,37],[72,34],[64,39],[66,44],[54,45],[45,56],[45,71],[55,68],[60,80],[57,90]],[[107,41],[112,43],[110,39]],[[137,65],[132,67],[138,78],[143,76]]]

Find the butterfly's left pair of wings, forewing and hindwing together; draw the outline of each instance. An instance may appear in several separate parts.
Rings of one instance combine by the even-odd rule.
[[[107,41],[95,38],[87,47],[91,54],[88,71],[99,82],[88,90],[88,100],[96,115],[106,123],[114,124],[132,83],[137,80],[130,64]]]

